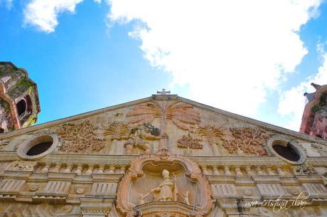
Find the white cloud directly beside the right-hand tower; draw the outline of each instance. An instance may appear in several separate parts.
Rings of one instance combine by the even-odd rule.
[[[289,115],[290,122],[285,127],[289,129],[299,130],[301,125],[301,118],[304,111],[304,92],[315,92],[316,90],[311,86],[311,83],[318,85],[327,84],[327,53],[323,50],[324,44],[319,43],[317,46],[318,52],[321,53],[323,64],[318,68],[318,73],[309,78],[291,90],[282,93],[279,98],[278,112],[280,115]]]

